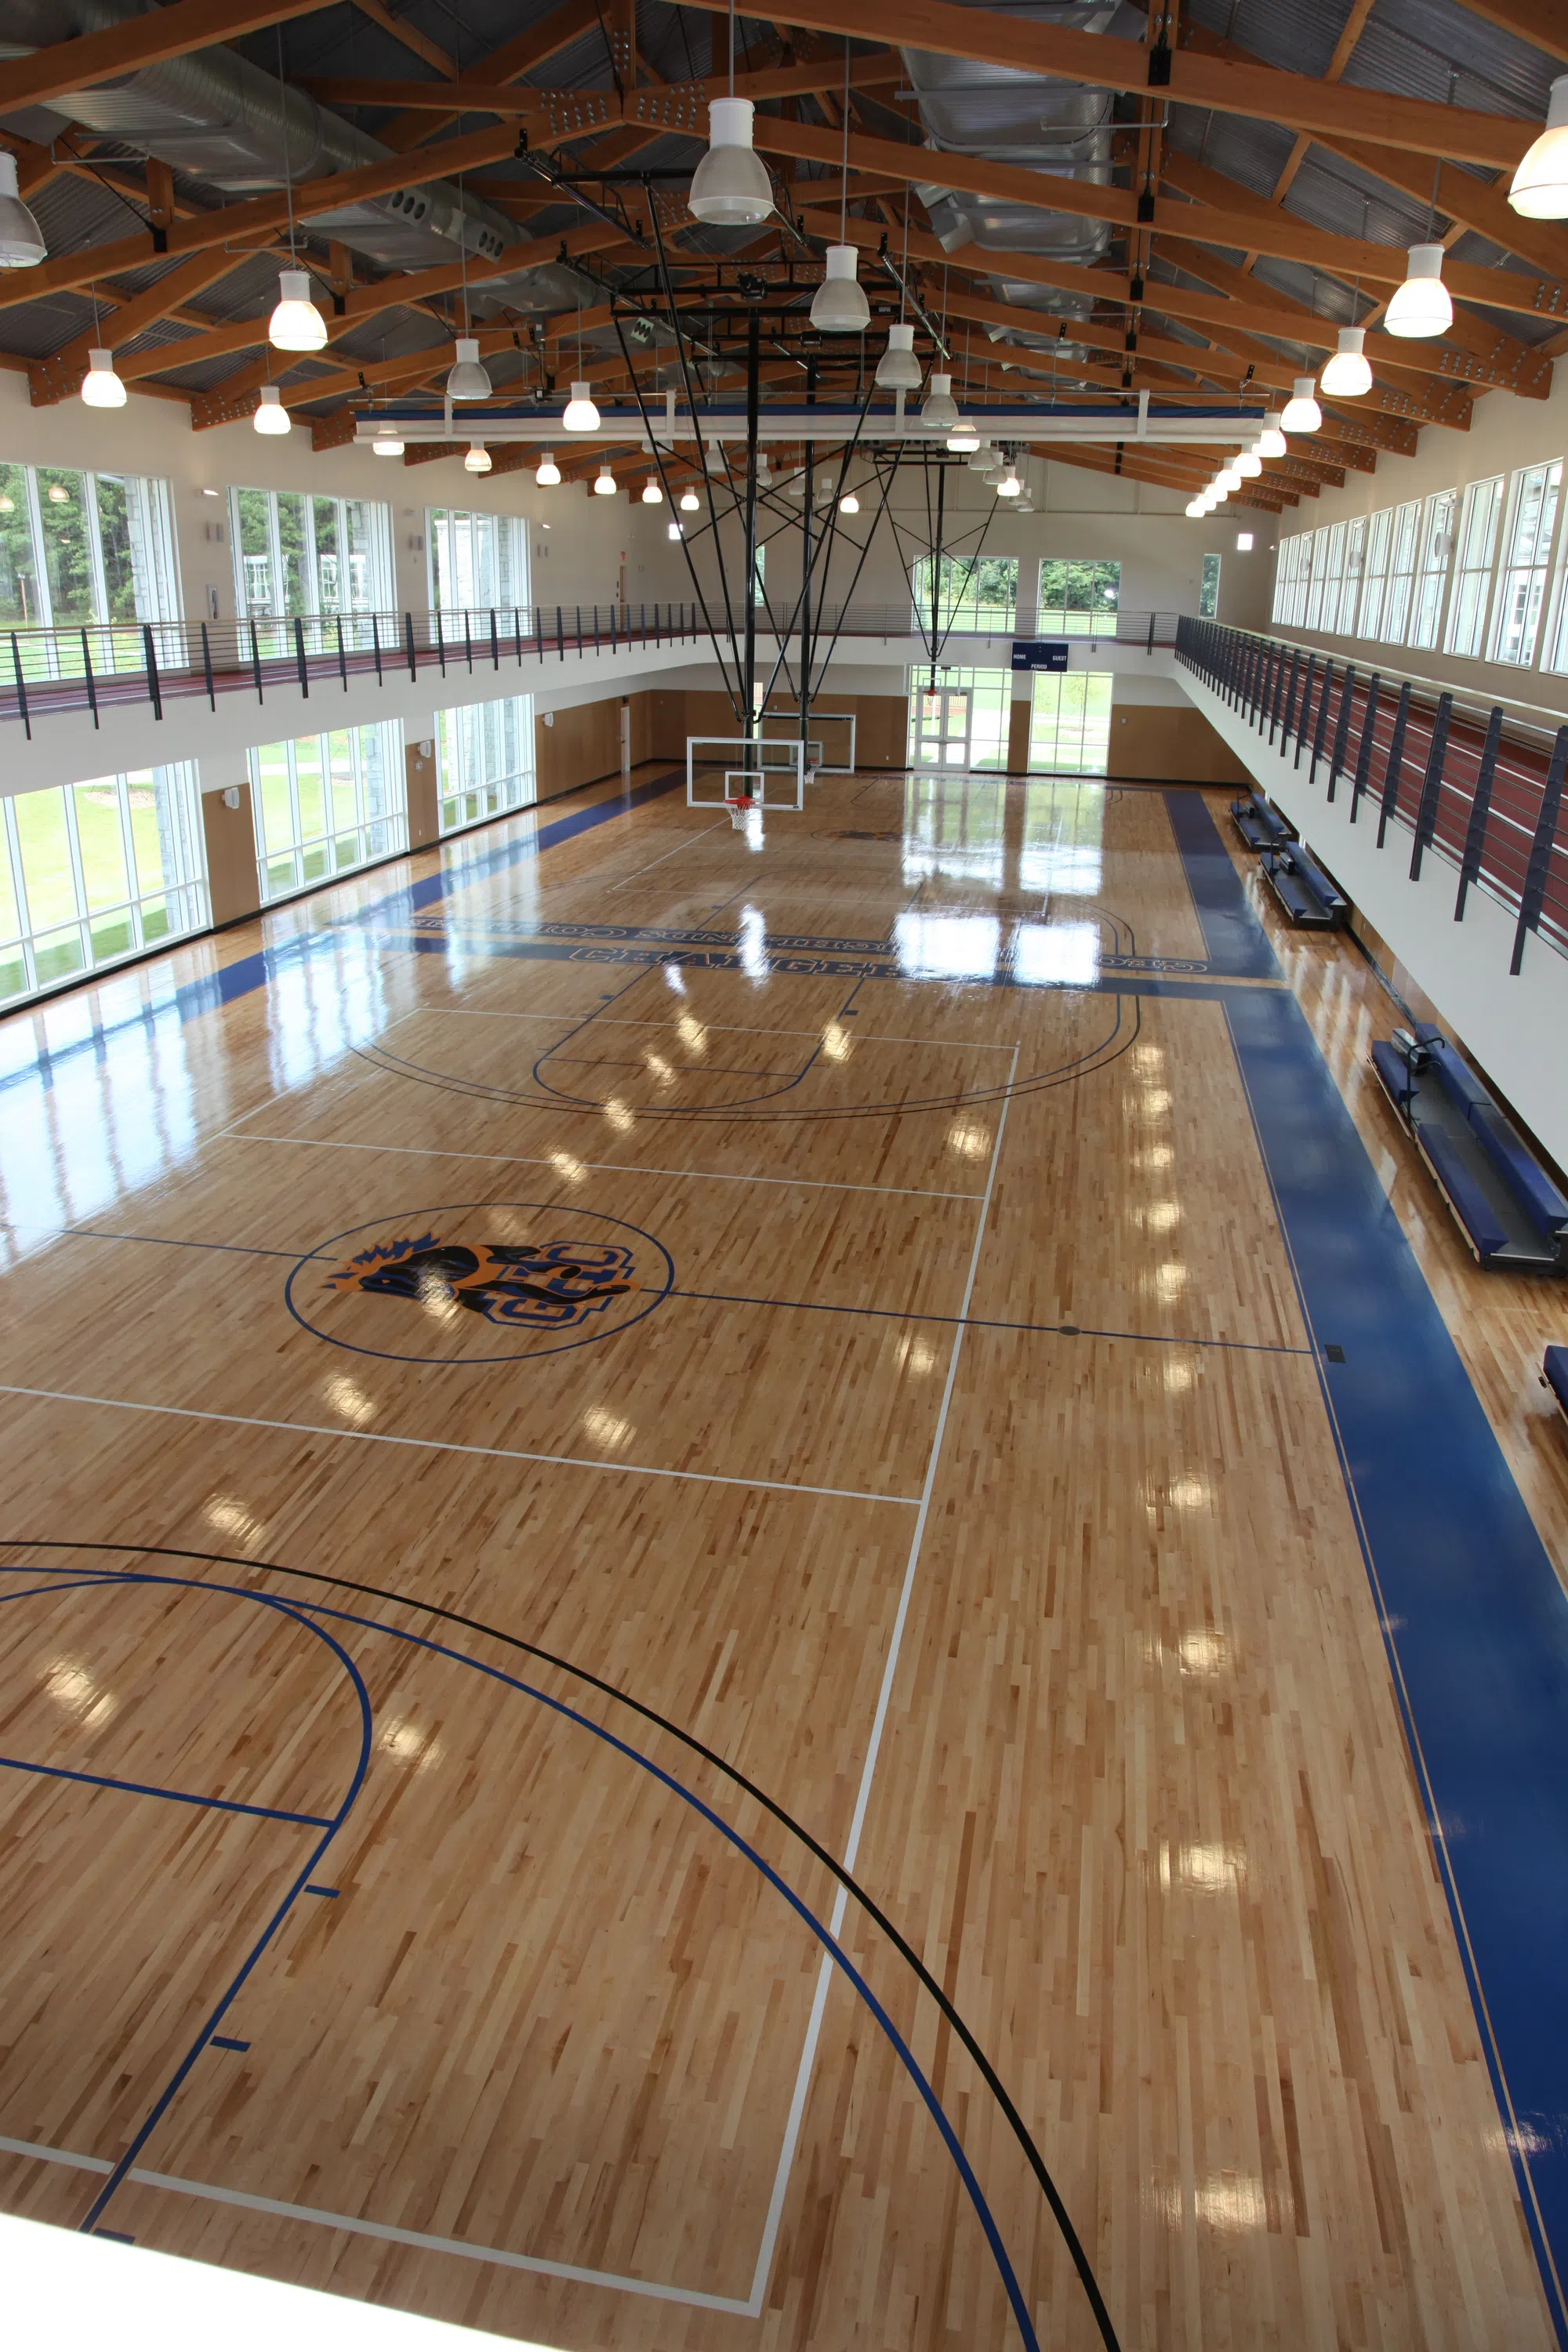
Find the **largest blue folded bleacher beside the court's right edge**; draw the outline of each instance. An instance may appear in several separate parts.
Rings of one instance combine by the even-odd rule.
[[[1568,1272],[1568,1200],[1441,1030],[1399,1030],[1371,1061],[1476,1263]]]

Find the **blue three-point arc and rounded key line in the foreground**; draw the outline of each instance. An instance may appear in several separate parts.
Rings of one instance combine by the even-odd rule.
[[[38,1573],[38,1569],[16,1569],[16,1566],[0,1564],[0,1573],[26,1576],[26,1573]],[[870,2009],[872,2018],[877,2020],[877,2025],[882,2027],[886,2042],[891,2044],[898,2063],[903,2065],[905,2074],[914,2084],[914,2089],[917,2089],[917,2093],[919,2093],[926,2112],[931,2114],[931,2122],[936,2124],[936,2129],[938,2129],[938,2133],[943,2138],[943,2145],[947,2147],[947,2154],[952,2157],[952,2164],[954,2164],[954,2169],[959,2173],[959,2180],[961,2180],[961,2185],[964,2185],[964,2190],[969,2194],[969,2201],[973,2206],[976,2220],[980,2223],[985,2241],[987,2241],[987,2246],[992,2251],[992,2260],[997,2263],[997,2272],[1001,2277],[1004,2293],[1006,2293],[1009,2305],[1013,2310],[1013,2319],[1018,2324],[1018,2333],[1023,2336],[1023,2343],[1025,2343],[1027,2352],[1039,2352],[1039,2336],[1034,2333],[1034,2321],[1032,2321],[1032,2314],[1030,2314],[1030,2303],[1027,2303],[1027,2298],[1023,2293],[1023,2286],[1018,2284],[1018,2274],[1013,2272],[1013,2263],[1011,2263],[1006,2244],[1001,2239],[1001,2230],[997,2227],[997,2220],[994,2220],[994,2216],[990,2211],[990,2204],[985,2201],[985,2192],[983,2192],[983,2187],[980,2187],[980,2183],[978,2183],[978,2178],[973,2173],[973,2166],[971,2166],[971,2161],[969,2161],[969,2157],[964,2152],[964,2143],[959,2140],[957,2131],[947,2122],[943,2103],[938,2100],[936,2089],[931,2086],[929,2077],[922,2072],[922,2065],[914,2058],[914,2051],[903,2039],[903,2034],[898,2032],[893,2018],[889,2016],[889,2011],[884,2009],[884,2004],[877,1999],[877,1994],[867,1985],[865,1976],[856,1969],[853,1959],[849,1957],[849,1952],[844,1950],[844,1945],[839,1943],[839,1938],[827,1926],[823,1926],[823,1922],[816,1917],[816,1912],[802,1900],[802,1896],[795,1893],[792,1886],[788,1886],[788,1882],[773,1870],[773,1865],[769,1860],[764,1860],[764,1856],[745,1837],[741,1837],[741,1832],[733,1830],[724,1820],[722,1813],[717,1813],[691,1788],[686,1788],[684,1780],[677,1780],[675,1773],[668,1773],[663,1769],[663,1764],[656,1764],[651,1757],[642,1755],[639,1748],[632,1748],[628,1740],[616,1738],[614,1731],[607,1731],[602,1724],[595,1724],[592,1717],[581,1715],[576,1708],[567,1705],[562,1698],[550,1698],[548,1691],[534,1689],[531,1684],[522,1682],[517,1675],[508,1675],[498,1665],[487,1665],[482,1658],[470,1658],[470,1656],[465,1656],[458,1649],[449,1649],[444,1642],[433,1642],[428,1635],[404,1632],[397,1625],[383,1625],[376,1618],[357,1616],[353,1609],[331,1609],[324,1602],[280,1602],[280,1599],[273,1599],[273,1595],[254,1592],[254,1590],[247,1590],[244,1585],[221,1585],[221,1583],[209,1581],[209,1578],[167,1576],[167,1573],[150,1573],[150,1571],[143,1571],[143,1569],[134,1569],[134,1571],[94,1571],[87,1578],[82,1578],[80,1571],[61,1571],[61,1588],[68,1590],[68,1585],[63,1585],[66,1576],[73,1576],[75,1583],[82,1583],[82,1585],[183,1585],[183,1588],[195,1590],[195,1592],[233,1592],[240,1599],[263,1602],[266,1606],[277,1609],[280,1616],[296,1618],[299,1623],[306,1623],[306,1625],[313,1618],[329,1618],[336,1625],[357,1625],[357,1628],[362,1628],[367,1632],[383,1635],[386,1639],[407,1642],[411,1649],[423,1649],[423,1651],[428,1651],[435,1658],[447,1658],[454,1665],[463,1665],[463,1668],[468,1668],[475,1675],[487,1675],[491,1682],[498,1682],[498,1684],[503,1684],[510,1691],[520,1691],[524,1698],[531,1698],[531,1700],[536,1700],[536,1705],[548,1708],[552,1715],[562,1717],[562,1722],[574,1724],[578,1731],[588,1731],[592,1738],[602,1740],[607,1748],[614,1748],[616,1755],[625,1757],[630,1764],[639,1766],[639,1771],[649,1773],[649,1778],[654,1778],[663,1788],[668,1788],[672,1797],[677,1797],[693,1813],[698,1813],[712,1830],[717,1830],[719,1837],[729,1846],[733,1846],[733,1851],[741,1853],[769,1882],[769,1886],[773,1889],[773,1893],[778,1893],[788,1903],[788,1907],[804,1922],[804,1926],[809,1929],[809,1933],[823,1945],[823,1950],[830,1955],[830,1959],[849,1978],[849,1983],[858,1992],[860,2002]],[[54,1588],[49,1588],[49,1590],[54,1590]],[[343,1658],[343,1663],[353,1672],[355,1689],[360,1691],[360,1703],[362,1703],[362,1710],[364,1710],[364,1731],[362,1731],[360,1766],[355,1771],[355,1780],[350,1785],[350,1792],[343,1799],[343,1806],[339,1809],[339,1818],[334,1823],[334,1830],[336,1830],[341,1825],[341,1820],[348,1816],[348,1809],[353,1806],[353,1802],[355,1802],[355,1797],[357,1797],[357,1792],[362,1788],[364,1769],[369,1764],[369,1696],[364,1693],[364,1682],[362,1682],[357,1668],[353,1665],[353,1661],[348,1658],[348,1651],[324,1628],[313,1625],[313,1630],[320,1635],[320,1639],[324,1639]],[[329,1835],[331,1835],[331,1830],[329,1830]],[[327,1846],[327,1839],[322,1839],[322,1846],[317,1849],[317,1853],[324,1851],[324,1846]],[[165,2110],[167,2110],[169,2100],[174,2098],[179,2084],[190,2072],[190,2065],[193,2065],[197,2051],[212,2039],[214,2025],[223,2018],[223,2011],[237,1997],[244,1978],[252,1973],[254,1964],[261,1959],[261,1952],[270,1943],[275,1929],[282,1924],[282,1917],[287,1915],[287,1910],[294,1903],[294,1896],[299,1891],[315,1893],[315,1896],[336,1896],[339,1893],[336,1886],[303,1884],[303,1872],[301,1872],[301,1879],[294,1884],[294,1889],[289,1891],[289,1896],[284,1896],[284,1903],[280,1905],[275,1919],[263,1931],[261,1940],[256,1943],[254,1952],[244,1962],[242,1971],[235,1976],[233,1985],[228,1987],[228,1992],[223,1994],[223,1999],[214,2009],[212,2018],[207,2020],[207,2025],[202,2030],[202,2039],[186,2056],[183,2065],[172,2077],[172,2082],[165,2089],[162,2098],[158,2100],[158,2105],[153,2107],[153,2112],[148,2114],[148,2119],[141,2124],[136,2138],[132,2140],[132,2145],[127,2147],[127,2152],[115,2164],[110,2178],[106,2180],[106,2185],[99,2192],[99,2197],[94,2199],[87,2218],[82,2220],[82,2230],[94,2230],[96,2227],[99,2213],[103,2211],[103,2206],[113,2197],[115,2187],[120,2187],[120,2183],[125,2180],[125,2176],[132,2169],[132,2161],[136,2159],[136,2154],[141,2152],[146,2138],[150,2136],[150,2131],[155,2129],[155,2124],[165,2114]]]

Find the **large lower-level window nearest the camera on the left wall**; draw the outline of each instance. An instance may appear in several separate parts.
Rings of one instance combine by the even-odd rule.
[[[190,764],[0,802],[0,1002],[207,922]]]

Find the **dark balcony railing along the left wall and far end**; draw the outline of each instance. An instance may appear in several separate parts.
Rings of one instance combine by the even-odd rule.
[[[780,616],[783,619],[783,616]],[[1145,652],[1175,644],[1173,612],[1150,614],[1044,614],[1018,619],[1009,612],[959,612],[943,616],[936,659],[961,654],[976,637],[987,642],[1013,635],[1067,637],[1088,649],[1098,644],[1135,644]],[[56,710],[101,713],[141,703],[162,720],[165,703],[205,699],[214,710],[219,694],[254,694],[266,706],[268,694],[308,699],[313,687],[334,680],[386,684],[390,677],[418,677],[421,670],[538,670],[567,656],[621,654],[630,647],[663,649],[696,644],[710,637],[729,652],[729,630],[719,614],[696,602],[649,604],[527,604],[484,607],[473,612],[343,612],[287,614],[244,621],[89,621],[82,628],[14,628],[0,644],[0,717],[21,720],[28,739],[33,722]],[[738,626],[738,616],[736,616]],[[757,630],[773,635],[773,623],[757,614]],[[790,628],[785,642],[799,637]],[[929,647],[910,604],[837,604],[811,616],[813,654],[839,637],[914,637]]]

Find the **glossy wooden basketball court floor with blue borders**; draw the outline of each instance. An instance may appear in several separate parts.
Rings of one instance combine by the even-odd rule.
[[[1554,2340],[1563,1486],[1220,811],[651,779],[0,1025],[7,2209],[571,2352]]]

